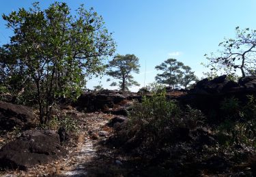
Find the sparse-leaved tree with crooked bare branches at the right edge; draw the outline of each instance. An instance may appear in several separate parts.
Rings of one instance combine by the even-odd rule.
[[[210,61],[208,67],[211,69],[225,69],[227,73],[236,72],[240,69],[242,77],[255,75],[256,63],[256,30],[242,29],[236,27],[236,38],[225,39],[218,44],[222,50],[218,51],[219,56],[210,54],[205,57]]]

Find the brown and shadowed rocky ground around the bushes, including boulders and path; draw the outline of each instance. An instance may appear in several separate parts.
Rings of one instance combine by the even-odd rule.
[[[134,108],[134,103],[141,101],[141,94],[103,90],[84,93],[76,103],[60,106],[54,112],[56,117],[68,116],[76,120],[76,133],[68,135],[67,140],[66,134],[62,135],[57,129],[44,131],[48,127],[33,126],[36,114],[31,108],[0,101],[0,165],[5,166],[5,163],[14,161],[10,164],[18,164],[23,170],[1,169],[0,176],[253,176],[256,174],[255,146],[238,141],[225,148],[219,142],[216,131],[217,126],[225,123],[227,116],[236,113],[231,110],[232,114],[227,114],[221,110],[225,97],[236,97],[240,106],[244,106],[241,108],[246,109],[247,95],[256,95],[255,77],[242,78],[237,83],[221,76],[214,80],[201,80],[188,92],[167,92],[167,99],[176,99],[184,106],[198,108],[205,119],[195,129],[183,127],[175,131],[175,137],[180,137],[177,138],[179,140],[167,148],[156,148],[156,153],[145,151],[150,150],[147,149],[150,147],[145,147],[150,136],[145,133],[144,136],[133,136],[132,132],[128,135],[129,131],[122,131],[125,128],[122,125],[126,125],[122,122],[126,121],[127,113]],[[146,94],[146,97],[152,95]],[[254,110],[255,107],[252,108]],[[252,111],[248,115],[254,117],[256,113],[251,114]],[[251,119],[249,117],[247,120]],[[244,132],[244,129],[239,130]],[[250,130],[254,132],[255,129]],[[118,136],[119,131],[123,132],[121,136]],[[51,148],[41,143],[50,134],[53,139],[58,137],[55,143],[49,141]],[[224,138],[231,137],[227,133],[223,135]],[[129,139],[118,145],[118,140],[125,136]],[[254,141],[255,138],[248,140]],[[129,146],[134,142],[137,148]],[[24,145],[19,148],[16,144]],[[59,158],[55,158],[58,153]],[[27,154],[27,161],[31,161],[29,157],[32,155],[32,159],[36,159],[34,163],[39,165],[27,164]],[[44,157],[51,163],[42,160]]]

